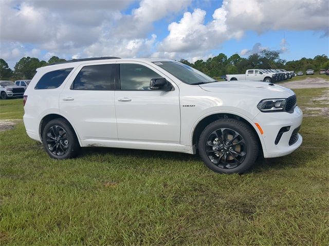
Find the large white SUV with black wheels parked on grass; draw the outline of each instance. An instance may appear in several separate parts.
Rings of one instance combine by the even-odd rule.
[[[27,134],[52,158],[80,147],[199,155],[218,173],[243,173],[259,153],[302,143],[293,91],[251,81],[218,82],[174,60],[89,58],[39,68],[24,95]]]

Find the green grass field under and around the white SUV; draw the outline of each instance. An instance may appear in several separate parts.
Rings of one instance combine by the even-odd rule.
[[[295,90],[298,104],[324,90]],[[1,100],[0,118],[22,107]],[[301,134],[289,156],[218,175],[170,152],[53,160],[19,123],[0,132],[0,245],[329,245],[328,117],[305,117]]]

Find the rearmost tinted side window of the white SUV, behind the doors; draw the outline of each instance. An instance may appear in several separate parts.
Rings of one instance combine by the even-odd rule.
[[[43,89],[55,89],[60,87],[67,75],[72,71],[73,68],[65,68],[54,70],[48,73],[45,73],[36,86],[34,87],[35,90],[43,90]]]

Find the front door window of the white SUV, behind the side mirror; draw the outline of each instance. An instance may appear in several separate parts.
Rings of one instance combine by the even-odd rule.
[[[120,64],[121,90],[150,90],[150,80],[161,76],[139,64]]]

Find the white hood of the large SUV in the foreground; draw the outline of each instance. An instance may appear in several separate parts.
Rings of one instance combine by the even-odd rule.
[[[199,85],[203,90],[232,94],[261,95],[265,98],[289,97],[295,93],[288,88],[262,81],[233,80]]]

